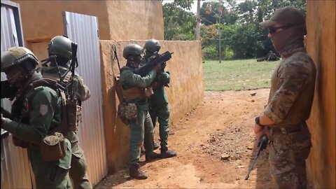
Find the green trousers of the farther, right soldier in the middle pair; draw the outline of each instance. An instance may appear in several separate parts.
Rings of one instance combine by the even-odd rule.
[[[159,135],[160,145],[162,151],[168,150],[168,134],[169,134],[169,108],[168,104],[162,104],[160,106],[151,106],[149,111],[153,123],[153,129],[156,125],[156,121],[159,123]]]

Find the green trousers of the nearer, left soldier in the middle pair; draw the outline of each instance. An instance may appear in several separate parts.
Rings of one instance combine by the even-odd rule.
[[[153,123],[148,110],[138,109],[137,120],[130,122],[130,165],[139,165],[141,145],[146,153],[153,152]]]

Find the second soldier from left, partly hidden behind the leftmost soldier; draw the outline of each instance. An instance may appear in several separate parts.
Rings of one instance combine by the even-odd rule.
[[[51,59],[50,66],[43,66],[41,68],[43,78],[50,78],[59,81],[59,72],[61,75],[66,73],[69,69],[69,63],[72,58],[71,43],[72,41],[66,36],[55,36],[52,38],[48,44],[48,54],[49,56],[57,56],[56,62],[58,64],[58,68],[55,60]],[[68,82],[70,78],[71,71],[66,74],[66,80],[64,80],[64,82]],[[81,102],[90,97],[90,90],[84,84],[83,79],[78,75],[78,73],[75,74],[73,82],[76,86],[76,97],[78,99],[78,103],[81,105]],[[77,132],[68,131],[66,132],[65,137],[71,142],[72,158],[69,174],[73,181],[73,188],[92,188],[87,176],[87,162],[85,160],[84,152],[79,146]]]

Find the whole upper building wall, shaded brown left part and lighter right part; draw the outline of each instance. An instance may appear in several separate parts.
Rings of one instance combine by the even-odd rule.
[[[25,45],[38,59],[48,53],[36,46],[64,34],[63,11],[97,16],[100,39],[163,39],[161,1],[13,1],[20,4]]]

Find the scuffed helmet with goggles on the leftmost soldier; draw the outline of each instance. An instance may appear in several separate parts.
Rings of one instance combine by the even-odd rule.
[[[5,52],[1,53],[1,72],[11,66],[22,63],[25,63],[22,66],[30,71],[36,68],[38,59],[31,50],[24,47],[8,48]]]

